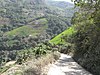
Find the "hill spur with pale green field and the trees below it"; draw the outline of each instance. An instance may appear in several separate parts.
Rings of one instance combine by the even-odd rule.
[[[8,31],[3,34],[0,39],[0,50],[16,50],[35,46],[39,40],[39,36],[43,34],[47,28],[45,19],[37,20],[38,24],[25,25]],[[41,23],[42,22],[42,23]],[[38,37],[37,37],[38,36]],[[34,39],[35,38],[35,39]]]

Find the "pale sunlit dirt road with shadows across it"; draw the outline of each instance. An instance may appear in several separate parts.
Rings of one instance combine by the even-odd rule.
[[[92,75],[80,65],[78,65],[71,56],[61,54],[60,59],[52,64],[47,75]]]

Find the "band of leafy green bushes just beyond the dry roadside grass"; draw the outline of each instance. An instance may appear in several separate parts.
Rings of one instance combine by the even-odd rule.
[[[0,66],[3,66],[9,61],[16,61],[16,63],[22,64],[29,59],[39,58],[42,55],[48,54],[48,52],[53,50],[52,48],[54,48],[54,46],[49,43],[41,43],[37,44],[34,48],[31,47],[19,51],[0,51]]]

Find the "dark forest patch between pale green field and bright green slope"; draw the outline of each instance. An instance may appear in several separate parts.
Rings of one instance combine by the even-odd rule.
[[[68,27],[68,22],[64,17],[56,17],[48,15],[48,29],[46,30],[47,34],[51,37],[61,33]]]

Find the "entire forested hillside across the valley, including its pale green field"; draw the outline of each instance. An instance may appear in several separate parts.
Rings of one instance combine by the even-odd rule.
[[[14,43],[13,39],[16,36],[22,39],[29,35],[42,34],[46,36],[41,35],[43,39],[51,39],[70,26],[67,15],[63,12],[64,9],[48,5],[44,0],[1,0],[0,3],[0,43],[3,47],[1,50],[7,50],[4,43],[8,40]]]

